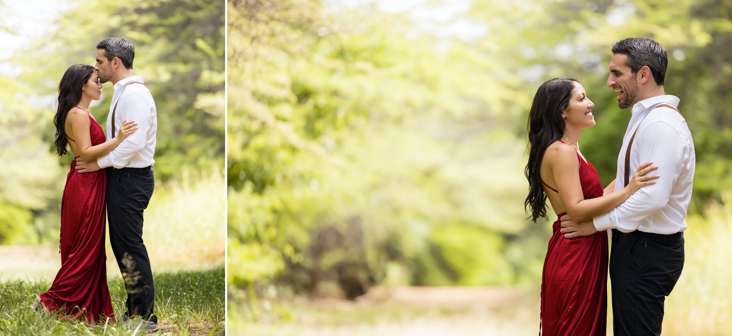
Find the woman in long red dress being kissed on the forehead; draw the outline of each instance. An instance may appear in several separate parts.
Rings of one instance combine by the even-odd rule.
[[[109,153],[125,137],[135,132],[134,121],[124,121],[119,134],[105,142],[102,127],[89,113],[89,103],[99,100],[102,84],[94,67],[70,66],[59,83],[59,106],[56,125],[56,153],[68,154],[91,162]],[[68,140],[68,141],[67,141]],[[74,169],[66,179],[61,199],[61,270],[51,289],[40,294],[32,308],[71,318],[84,318],[90,324],[114,321],[107,287],[105,261],[105,170],[79,173]]]

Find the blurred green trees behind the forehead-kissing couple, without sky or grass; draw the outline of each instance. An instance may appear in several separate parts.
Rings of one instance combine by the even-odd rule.
[[[29,224],[35,233],[24,243],[58,239],[61,191],[72,157],[57,159],[52,151],[54,94],[70,65],[94,64],[102,39],[124,37],[135,45],[135,75],[145,77],[157,106],[156,178],[179,178],[223,162],[224,7],[223,1],[201,0],[76,1],[56,31],[10,59],[19,75],[0,75],[0,206],[33,213]],[[102,125],[112,94],[106,83],[102,99],[90,107]],[[23,231],[23,224],[12,223]]]

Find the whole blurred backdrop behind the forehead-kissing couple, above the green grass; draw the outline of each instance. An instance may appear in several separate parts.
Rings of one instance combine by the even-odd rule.
[[[96,43],[135,45],[158,113],[156,187],[143,239],[154,272],[223,267],[223,1],[0,1],[0,280],[53,280],[72,156],[53,150],[59,80]],[[90,110],[105,125],[113,85]],[[108,273],[119,277],[111,248]]]

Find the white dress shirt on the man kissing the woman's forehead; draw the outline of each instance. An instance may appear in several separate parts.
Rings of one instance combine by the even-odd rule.
[[[99,167],[132,167],[144,168],[152,166],[155,160],[155,134],[157,133],[157,109],[150,91],[140,84],[145,83],[142,76],[130,76],[120,80],[114,85],[112,104],[109,107],[107,117],[107,140],[111,140],[116,134],[112,134],[112,122],[114,131],[119,133],[122,121],[135,121],[139,129],[130,134],[111,152],[97,159]],[[125,88],[126,87],[126,88]],[[119,103],[118,103],[119,101]],[[112,121],[112,110],[117,104],[115,119]]]

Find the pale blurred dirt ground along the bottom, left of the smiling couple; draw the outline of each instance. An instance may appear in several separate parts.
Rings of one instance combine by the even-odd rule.
[[[230,335],[537,335],[538,293],[507,287],[376,289],[356,302],[293,303],[295,321],[230,328]],[[231,316],[236,318],[236,316]]]

